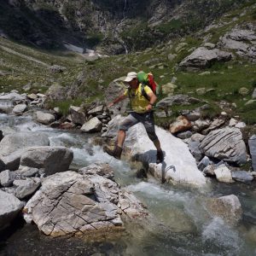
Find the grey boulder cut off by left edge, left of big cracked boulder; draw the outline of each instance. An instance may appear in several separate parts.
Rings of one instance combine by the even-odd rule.
[[[14,195],[0,190],[0,206],[0,230],[3,230],[18,215],[23,203]]]

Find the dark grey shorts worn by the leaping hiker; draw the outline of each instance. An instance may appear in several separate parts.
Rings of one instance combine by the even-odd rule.
[[[154,130],[154,114],[152,111],[148,113],[136,113],[136,112],[130,113],[119,124],[119,130],[127,131],[131,126],[137,125],[137,123],[140,123],[140,122],[143,123],[150,140],[153,142],[158,140],[158,137],[156,136],[155,130]]]

